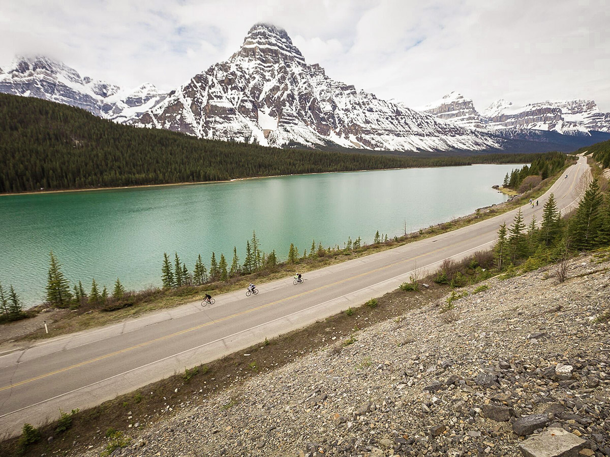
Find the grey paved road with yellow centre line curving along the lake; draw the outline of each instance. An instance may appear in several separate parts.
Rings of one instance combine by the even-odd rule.
[[[563,212],[578,205],[590,179],[580,157],[539,199],[521,209],[525,224],[554,193]],[[294,286],[283,278],[138,319],[37,342],[0,355],[0,430],[18,434],[24,422],[59,419],[59,408],[88,408],[146,384],[244,349],[266,338],[304,327],[371,297],[393,291],[418,271],[433,272],[446,258],[460,260],[489,249],[498,226],[510,225],[517,210],[395,249],[356,258],[306,274]]]

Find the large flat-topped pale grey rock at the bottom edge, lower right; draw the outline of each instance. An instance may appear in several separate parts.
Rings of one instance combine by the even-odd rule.
[[[549,428],[523,441],[519,450],[525,457],[578,457],[586,444],[584,439],[563,428]]]

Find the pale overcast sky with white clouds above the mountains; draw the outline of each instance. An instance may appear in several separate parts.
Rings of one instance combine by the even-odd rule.
[[[0,0],[0,67],[45,54],[123,87],[178,87],[287,30],[332,79],[422,107],[587,98],[610,112],[608,0]]]

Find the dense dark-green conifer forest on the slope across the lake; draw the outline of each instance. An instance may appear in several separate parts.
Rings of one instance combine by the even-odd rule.
[[[115,124],[80,108],[0,94],[0,193],[219,181],[363,169],[533,162],[538,154],[400,157],[298,151]],[[559,154],[559,153],[557,153]]]

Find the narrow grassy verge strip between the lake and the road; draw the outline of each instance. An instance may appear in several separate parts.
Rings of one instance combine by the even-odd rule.
[[[567,168],[567,166],[565,167]],[[511,211],[517,208],[530,198],[536,199],[537,197],[544,194],[548,188],[555,182],[556,179],[564,174],[565,168],[557,174],[549,177],[548,179],[541,182],[536,188],[529,191],[528,193],[522,194],[515,197],[509,202],[493,205],[492,207],[481,208],[473,214],[463,216],[453,221],[442,222],[437,225],[432,225],[428,228],[419,230],[418,232],[404,234],[400,237],[391,238],[387,242],[378,244],[370,244],[362,246],[359,249],[346,251],[340,250],[332,252],[325,257],[313,257],[301,259],[296,264],[281,263],[272,271],[264,270],[259,271],[251,275],[245,275],[239,278],[234,278],[226,283],[211,283],[204,286],[187,286],[179,289],[173,289],[171,291],[162,291],[160,289],[149,289],[146,291],[136,292],[137,297],[134,306],[129,308],[123,308],[112,312],[104,312],[99,308],[91,308],[87,306],[81,306],[81,308],[71,311],[70,313],[62,313],[59,316],[59,320],[52,322],[49,325],[49,334],[47,335],[44,329],[38,328],[38,330],[29,333],[28,335],[21,336],[19,338],[13,338],[11,342],[18,341],[32,341],[37,339],[52,338],[54,336],[66,335],[74,333],[76,331],[87,330],[88,328],[102,327],[104,325],[113,324],[116,322],[123,321],[124,319],[131,319],[134,317],[142,316],[143,314],[150,313],[152,311],[165,310],[174,306],[184,305],[188,302],[203,299],[206,292],[210,292],[212,296],[231,292],[239,289],[245,289],[250,282],[260,283],[269,282],[279,278],[284,278],[295,274],[296,272],[307,273],[316,269],[320,269],[326,266],[331,266],[337,263],[341,263],[346,260],[359,258],[364,255],[370,255],[372,253],[381,252],[383,250],[392,249],[393,247],[403,246],[413,241],[420,239],[429,238],[436,236],[441,233],[450,232],[458,228],[466,227],[476,222],[484,221],[485,219],[492,218],[498,214]],[[44,306],[32,308],[29,311],[30,315],[35,315],[44,309]],[[4,339],[7,341],[7,339]],[[0,343],[2,343],[0,339]]]

